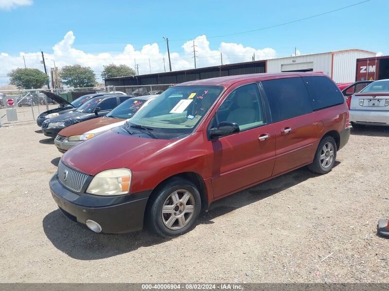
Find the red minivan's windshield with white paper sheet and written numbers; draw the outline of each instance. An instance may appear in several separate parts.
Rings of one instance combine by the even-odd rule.
[[[153,133],[189,134],[223,91],[221,86],[175,86],[138,112],[129,126]]]

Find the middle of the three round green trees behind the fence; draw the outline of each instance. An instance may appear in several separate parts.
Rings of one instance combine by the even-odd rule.
[[[59,74],[63,83],[71,87],[93,87],[96,84],[96,75],[89,67],[64,66]]]

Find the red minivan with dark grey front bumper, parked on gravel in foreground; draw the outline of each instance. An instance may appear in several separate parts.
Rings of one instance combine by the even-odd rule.
[[[69,150],[50,188],[65,216],[95,232],[147,223],[174,237],[215,200],[305,165],[331,171],[348,118],[339,88],[320,73],[187,82]]]

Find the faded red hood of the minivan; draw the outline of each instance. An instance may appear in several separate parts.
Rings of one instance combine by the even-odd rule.
[[[62,161],[77,171],[94,176],[109,169],[131,169],[131,165],[138,159],[177,141],[141,136],[145,135],[130,136],[110,130],[71,148],[62,156]]]

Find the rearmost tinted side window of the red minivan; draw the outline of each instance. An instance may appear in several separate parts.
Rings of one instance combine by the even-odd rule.
[[[327,77],[302,77],[312,100],[313,110],[319,110],[344,102],[338,86]]]

